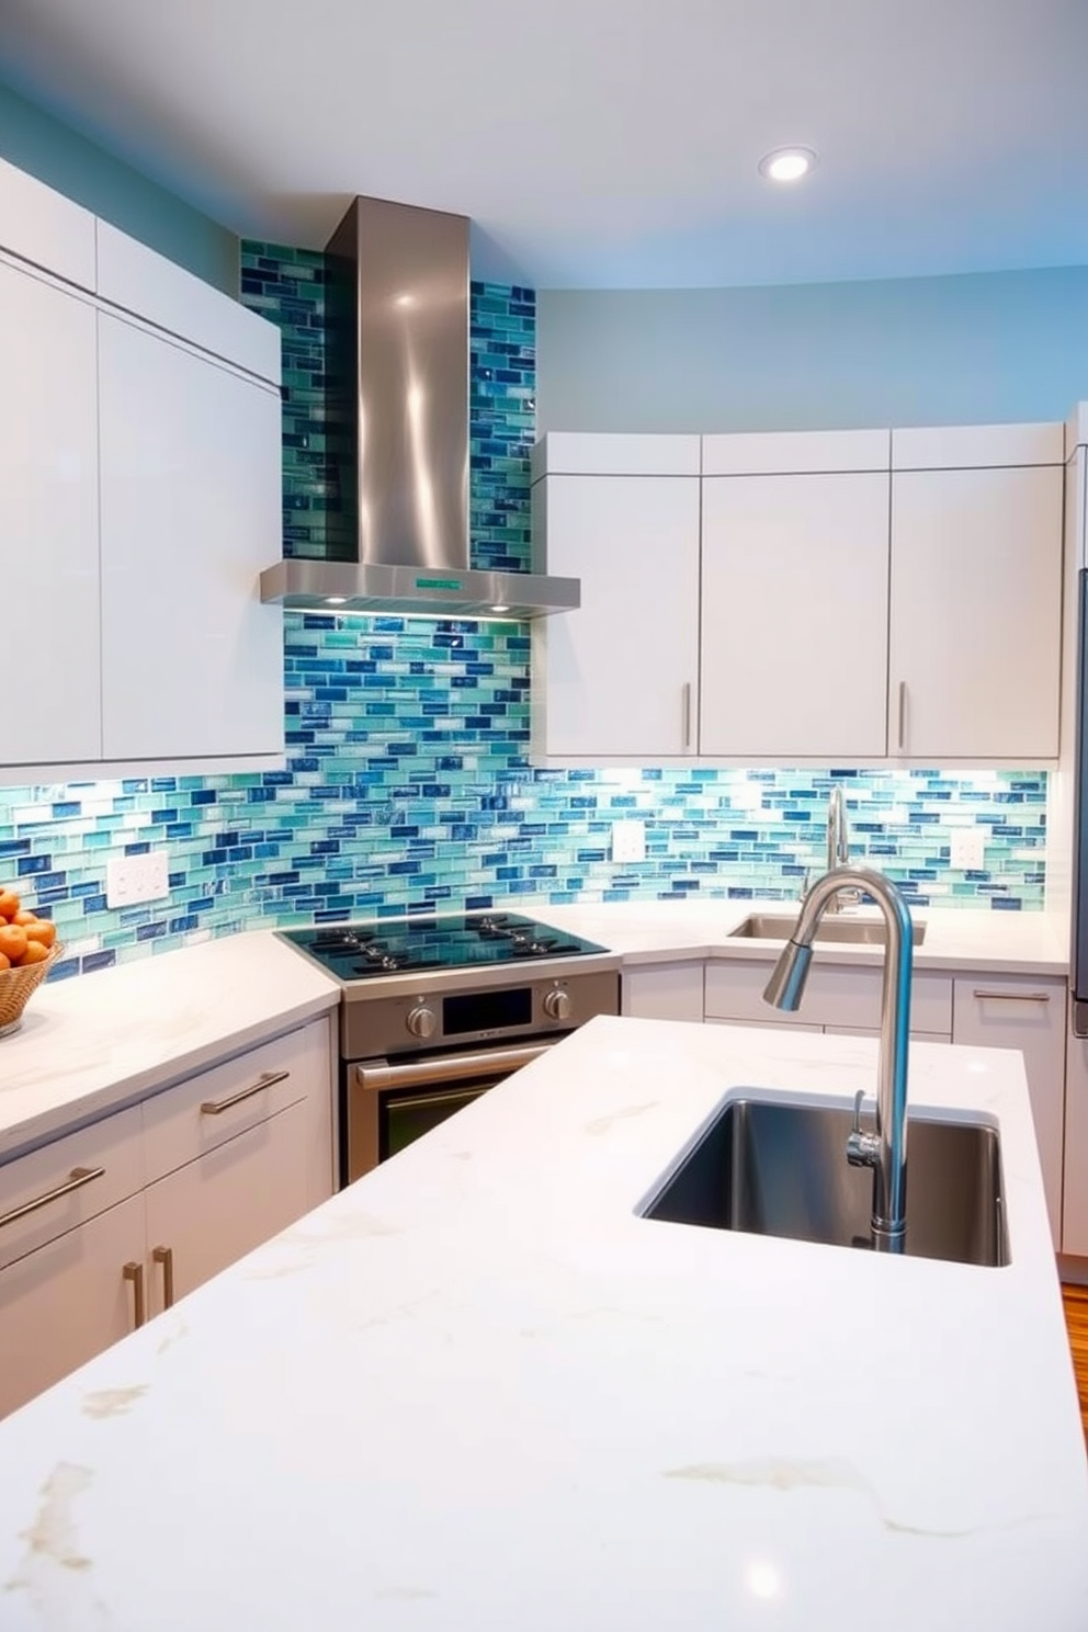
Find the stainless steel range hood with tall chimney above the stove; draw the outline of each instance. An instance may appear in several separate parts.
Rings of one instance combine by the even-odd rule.
[[[269,566],[261,601],[427,617],[577,607],[576,578],[468,566],[468,217],[357,197],[326,259],[341,508],[328,558]]]

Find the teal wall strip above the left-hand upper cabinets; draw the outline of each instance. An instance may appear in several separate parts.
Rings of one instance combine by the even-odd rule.
[[[2,41],[0,41],[2,44]],[[166,255],[227,294],[238,294],[238,238],[130,165],[0,83],[0,158]]]

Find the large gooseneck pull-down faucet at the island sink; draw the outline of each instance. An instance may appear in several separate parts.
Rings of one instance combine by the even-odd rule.
[[[891,878],[871,867],[832,867],[817,878],[804,898],[798,925],[775,965],[763,997],[775,1009],[801,1007],[812,960],[812,938],[840,889],[865,889],[871,894],[887,925],[876,1134],[861,1133],[855,1115],[855,1129],[847,1141],[847,1160],[855,1167],[873,1169],[873,1235],[876,1245],[896,1252],[902,1250],[907,1229],[907,1049],[913,927],[907,902]]]

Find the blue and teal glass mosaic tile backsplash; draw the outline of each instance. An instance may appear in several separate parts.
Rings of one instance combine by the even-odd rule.
[[[245,246],[243,297],[284,331],[284,537],[320,553],[334,493],[321,424],[321,259]],[[473,565],[529,561],[535,305],[473,286]],[[853,854],[910,901],[1039,909],[1044,774],[538,770],[519,623],[285,617],[289,762],[235,777],[0,788],[0,881],[49,912],[86,973],[207,935],[431,907],[752,894],[796,898],[842,782]],[[646,860],[610,860],[617,819]],[[951,867],[982,829],[984,867]],[[170,855],[170,899],[106,907],[106,862]]]

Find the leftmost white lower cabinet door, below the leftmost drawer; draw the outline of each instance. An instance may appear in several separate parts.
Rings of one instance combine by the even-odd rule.
[[[0,1270],[0,1417],[132,1332],[145,1294],[142,1195]]]

